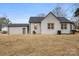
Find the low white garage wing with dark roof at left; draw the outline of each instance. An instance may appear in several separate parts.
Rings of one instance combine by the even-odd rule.
[[[9,24],[8,34],[21,35],[29,33],[29,24]]]

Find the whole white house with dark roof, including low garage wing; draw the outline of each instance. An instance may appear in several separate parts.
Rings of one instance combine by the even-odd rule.
[[[30,17],[29,24],[8,24],[8,34],[69,34],[74,23],[49,12],[45,17]]]

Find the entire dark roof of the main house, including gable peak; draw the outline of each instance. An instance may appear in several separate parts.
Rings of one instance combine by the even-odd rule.
[[[47,14],[47,16],[49,14],[52,14],[53,16],[55,16],[52,12],[49,12]],[[46,16],[46,17],[47,17]],[[55,16],[56,17],[56,16]],[[30,17],[29,22],[30,23],[41,23],[41,21],[44,19],[45,17]],[[64,17],[56,17],[58,19],[58,21],[60,21],[61,23],[66,22],[66,23],[72,23],[71,21],[69,21],[68,19],[64,18]]]

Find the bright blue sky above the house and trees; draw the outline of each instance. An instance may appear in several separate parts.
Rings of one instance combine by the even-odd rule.
[[[7,3],[0,4],[0,16],[7,16],[13,23],[27,23],[30,16],[36,16],[40,13],[49,13],[56,6],[63,7],[68,15],[72,15],[69,11],[72,4],[57,3]]]

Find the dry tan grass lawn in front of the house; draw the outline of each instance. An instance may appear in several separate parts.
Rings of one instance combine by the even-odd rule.
[[[79,55],[75,35],[0,35],[0,55]]]

